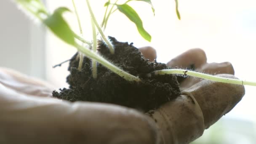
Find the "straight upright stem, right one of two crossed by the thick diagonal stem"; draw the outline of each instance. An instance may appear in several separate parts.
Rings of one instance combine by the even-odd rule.
[[[93,30],[93,52],[97,53],[97,35],[96,35],[96,29],[95,29],[95,24],[93,22],[93,20],[91,20],[91,26],[92,26],[92,30]],[[92,73],[93,73],[93,78],[96,79],[97,78],[97,63],[95,59],[92,59]]]

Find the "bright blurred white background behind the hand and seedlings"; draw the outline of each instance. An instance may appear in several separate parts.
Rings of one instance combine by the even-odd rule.
[[[43,0],[54,11],[67,6],[73,11],[72,0]],[[104,3],[91,0],[94,13],[101,22]],[[120,0],[120,3],[124,0]],[[235,76],[256,82],[256,1],[254,0],[179,0],[181,20],[176,16],[174,0],[152,0],[150,5],[131,2],[152,35],[149,43],[137,32],[122,13],[110,16],[106,34],[136,47],[150,45],[157,50],[157,61],[166,63],[190,48],[202,48],[208,62],[229,61]],[[91,22],[85,0],[76,0],[83,32],[91,37]],[[69,59],[75,48],[62,43],[40,23],[21,12],[11,0],[0,0],[0,67],[10,67],[27,75],[39,77],[57,88],[67,87],[67,66],[53,65]],[[79,33],[74,13],[65,14],[75,32]],[[32,21],[31,21],[32,19]],[[256,87],[245,86],[245,96],[227,115],[192,144],[256,144]]]

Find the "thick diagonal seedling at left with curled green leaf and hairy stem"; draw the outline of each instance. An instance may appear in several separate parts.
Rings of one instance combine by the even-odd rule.
[[[95,52],[95,49],[94,51],[90,50],[91,43],[89,43],[86,40],[83,40],[82,37],[75,34],[75,32],[73,32],[72,29],[70,29],[68,23],[64,20],[62,15],[64,12],[70,12],[68,8],[60,7],[57,8],[52,14],[50,14],[48,13],[48,11],[46,11],[46,8],[44,7],[43,3],[40,2],[40,0],[15,0],[15,2],[19,4],[21,8],[24,8],[25,11],[29,11],[33,16],[35,16],[35,18],[39,19],[43,24],[45,24],[45,26],[47,26],[51,30],[51,32],[53,32],[57,37],[59,37],[59,39],[68,43],[69,45],[74,46],[75,48],[77,48],[78,51],[85,54],[88,58],[99,62],[104,67],[107,67],[120,77],[123,77],[125,80],[137,82],[140,81],[138,77],[133,76],[128,72],[125,72],[124,70],[120,69],[119,67],[104,59],[102,56]],[[88,5],[88,7],[91,9],[90,5]],[[93,22],[97,27],[97,23],[95,21],[95,17],[92,11],[91,16],[94,19]],[[80,45],[76,42],[75,39],[87,42],[88,45]],[[96,43],[94,44],[96,45]]]

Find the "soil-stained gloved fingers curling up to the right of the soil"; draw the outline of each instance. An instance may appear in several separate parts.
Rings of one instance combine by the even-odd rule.
[[[220,77],[236,78],[229,62],[207,63],[199,48],[190,49],[168,62],[170,67],[191,68]],[[180,79],[181,95],[147,113],[159,127],[165,144],[188,144],[227,114],[245,94],[243,85],[218,83],[195,77]],[[175,110],[173,110],[175,109]]]

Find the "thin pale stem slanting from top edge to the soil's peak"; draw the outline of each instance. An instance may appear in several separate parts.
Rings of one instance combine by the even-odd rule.
[[[99,31],[103,41],[107,44],[110,53],[114,54],[115,53],[114,46],[112,45],[110,40],[104,35],[103,30],[101,29],[101,27],[99,26],[98,22],[96,21],[96,18],[95,18],[94,14],[93,14],[93,11],[91,9],[91,5],[89,3],[89,0],[86,0],[86,3],[87,3],[87,6],[88,6],[88,10],[89,10],[89,12],[91,14],[91,19],[92,19],[93,23],[97,27],[97,29],[98,29],[98,31]]]

